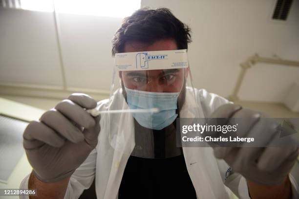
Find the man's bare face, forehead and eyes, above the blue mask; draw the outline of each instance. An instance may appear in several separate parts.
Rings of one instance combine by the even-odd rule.
[[[160,40],[153,44],[132,42],[125,44],[125,52],[177,50],[174,40]],[[185,69],[122,71],[122,84],[130,89],[148,92],[180,92]]]

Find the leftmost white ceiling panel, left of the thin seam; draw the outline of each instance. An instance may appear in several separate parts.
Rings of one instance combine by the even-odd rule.
[[[0,82],[62,85],[51,13],[0,9]]]

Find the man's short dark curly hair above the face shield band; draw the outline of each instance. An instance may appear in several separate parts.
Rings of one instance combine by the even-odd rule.
[[[125,18],[112,39],[112,56],[124,52],[127,42],[153,44],[162,39],[174,39],[178,49],[188,49],[191,29],[178,20],[168,8],[135,11]]]

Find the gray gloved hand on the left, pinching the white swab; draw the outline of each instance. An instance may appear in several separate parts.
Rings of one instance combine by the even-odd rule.
[[[74,93],[46,111],[40,121],[29,123],[23,133],[23,146],[35,176],[43,182],[70,177],[98,143],[100,116],[93,109],[96,101]]]

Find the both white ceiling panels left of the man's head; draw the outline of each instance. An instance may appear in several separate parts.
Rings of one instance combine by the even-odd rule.
[[[111,39],[120,18],[59,14],[68,87],[109,90]],[[0,9],[0,83],[62,86],[50,12]]]

